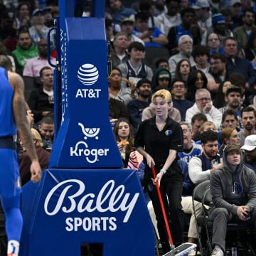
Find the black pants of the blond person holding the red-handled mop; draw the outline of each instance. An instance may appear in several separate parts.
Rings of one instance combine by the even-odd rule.
[[[166,215],[167,218],[171,219],[171,236],[175,246],[181,245],[183,242],[184,218],[181,206],[182,189],[182,181],[169,181],[166,183],[161,183],[160,186],[161,196],[163,198],[164,206],[166,209]],[[169,237],[164,222],[164,215],[161,210],[159,196],[156,191],[156,186],[150,186],[148,191],[153,204],[154,212],[156,214],[157,228],[159,231],[161,245],[163,247],[164,253],[166,253],[169,252],[171,248],[169,245]]]

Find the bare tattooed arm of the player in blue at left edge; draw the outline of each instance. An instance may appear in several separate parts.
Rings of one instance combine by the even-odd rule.
[[[36,155],[36,148],[33,144],[31,129],[26,119],[26,102],[24,99],[24,84],[20,75],[9,73],[9,81],[14,88],[13,111],[18,134],[26,147],[28,156],[31,158],[31,180],[37,182],[41,178],[41,167]]]

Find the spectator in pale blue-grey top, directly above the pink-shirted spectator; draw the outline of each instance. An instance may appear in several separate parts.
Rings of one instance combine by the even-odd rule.
[[[28,28],[31,39],[36,45],[38,45],[41,39],[47,39],[49,28],[44,24],[45,17],[43,16],[43,10],[36,9],[32,13],[31,23],[33,24]]]

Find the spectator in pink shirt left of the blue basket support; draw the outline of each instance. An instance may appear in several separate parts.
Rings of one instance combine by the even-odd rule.
[[[24,70],[23,70],[23,76],[29,76],[32,78],[38,78],[40,75],[40,70],[43,67],[50,67],[47,59],[47,40],[41,39],[38,43],[38,53],[39,55],[37,57],[28,59],[26,61]],[[50,57],[51,63],[55,64],[55,58]],[[53,69],[53,68],[52,68]]]

